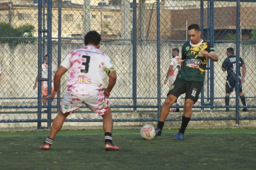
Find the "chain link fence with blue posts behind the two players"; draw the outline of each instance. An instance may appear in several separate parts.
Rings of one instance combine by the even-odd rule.
[[[38,14],[40,3],[41,16]],[[178,48],[181,57],[181,48],[188,41],[187,27],[192,23],[199,24],[202,38],[214,44],[219,61],[207,64],[204,88],[195,104],[193,117],[195,120],[234,119],[235,92],[230,96],[231,112],[226,113],[226,72],[221,66],[227,57],[226,49],[236,50],[235,0],[52,0],[51,15],[47,11],[48,5],[47,0],[0,2],[0,64],[3,67],[0,122],[49,121],[43,113],[47,107],[38,105],[41,96],[37,87],[33,89],[38,75],[39,50],[42,63],[48,52],[45,32],[40,33],[42,41],[38,48],[39,18],[42,30],[48,29],[47,20],[51,18],[52,65],[58,65],[69,52],[82,47],[83,35],[89,30],[101,33],[100,49],[111,57],[118,74],[109,98],[113,118],[128,122],[158,120],[160,105],[169,91],[164,79],[172,57],[171,49]],[[247,67],[243,94],[249,107],[249,112],[240,113],[240,116],[255,119],[256,3],[242,1],[240,11],[240,56]],[[67,74],[61,80],[60,98],[66,92],[66,78]],[[106,77],[104,85],[107,82]],[[184,103],[184,96],[181,103]],[[52,102],[53,113],[57,112],[57,106],[56,98]],[[40,118],[38,107],[42,110]],[[182,108],[183,105],[180,112]],[[55,114],[51,115],[52,119],[54,117]],[[169,114],[168,120],[179,120],[180,117],[181,113]],[[67,121],[97,122],[100,116],[83,107]]]

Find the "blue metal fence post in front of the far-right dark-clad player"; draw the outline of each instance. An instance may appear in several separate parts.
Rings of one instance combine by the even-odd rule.
[[[239,65],[239,57],[240,57],[240,0],[237,0],[237,7],[236,7],[236,63],[235,63],[235,118],[237,119],[237,125],[239,125],[239,72],[240,72],[240,65]]]

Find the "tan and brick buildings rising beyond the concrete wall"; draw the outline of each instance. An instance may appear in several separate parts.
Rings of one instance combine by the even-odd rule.
[[[47,2],[47,0],[45,0]],[[156,3],[137,0],[137,39],[156,39]],[[90,5],[89,5],[90,4]],[[204,35],[208,34],[207,3],[204,8]],[[82,37],[88,30],[96,30],[103,38],[131,39],[132,0],[62,0],[62,37]],[[215,40],[235,34],[236,3],[215,2]],[[46,4],[44,14],[46,11]],[[192,15],[193,14],[193,15]],[[241,3],[241,33],[247,40],[256,29],[256,4]],[[47,27],[47,16],[43,15]],[[38,28],[38,0],[2,0],[0,22],[13,25],[32,24]],[[200,1],[162,0],[160,2],[161,40],[186,40],[189,24],[200,24]],[[36,35],[37,36],[37,32]],[[58,0],[52,3],[52,37],[58,37]]]

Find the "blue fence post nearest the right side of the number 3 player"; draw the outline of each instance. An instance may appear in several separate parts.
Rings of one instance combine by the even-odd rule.
[[[137,110],[137,24],[136,24],[136,8],[137,8],[137,2],[136,0],[133,0],[133,29],[132,29],[132,33],[133,33],[133,44],[132,44],[132,99],[133,99],[133,108],[134,111]]]

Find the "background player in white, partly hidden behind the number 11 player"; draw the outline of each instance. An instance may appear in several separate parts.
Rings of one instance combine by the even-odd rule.
[[[164,80],[164,84],[166,84],[169,80],[169,88],[172,88],[172,85],[177,77],[177,75],[179,74],[179,70],[181,68],[181,58],[179,57],[179,49],[178,48],[173,48],[172,49],[172,59],[171,59],[171,63],[169,65],[169,69],[168,72],[166,74],[166,79]],[[181,100],[181,96],[179,96],[177,98],[177,102],[176,105],[180,105],[180,100]],[[173,112],[179,112],[179,108],[174,108]]]

